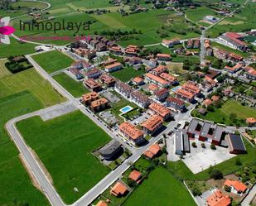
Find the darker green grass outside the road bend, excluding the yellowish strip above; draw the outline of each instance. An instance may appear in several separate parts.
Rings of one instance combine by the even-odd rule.
[[[31,184],[19,159],[17,148],[4,129],[4,124],[9,119],[30,113],[42,106],[28,91],[0,98],[0,205],[13,206],[13,199],[29,205],[50,205],[44,195]]]

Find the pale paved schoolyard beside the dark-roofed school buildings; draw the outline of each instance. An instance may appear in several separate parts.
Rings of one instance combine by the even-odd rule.
[[[190,142],[190,144],[193,141]],[[194,173],[206,170],[210,165],[218,165],[225,160],[229,160],[235,155],[229,154],[229,149],[216,146],[216,150],[210,149],[210,143],[205,143],[206,148],[201,147],[202,141],[196,140],[196,148],[191,146],[191,153],[184,156],[184,163]]]

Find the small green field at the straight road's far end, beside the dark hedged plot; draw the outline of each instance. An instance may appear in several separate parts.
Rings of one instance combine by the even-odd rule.
[[[32,56],[34,60],[45,69],[47,73],[53,73],[60,69],[69,67],[74,60],[70,59],[69,56],[64,55],[60,51],[52,50],[46,53]]]

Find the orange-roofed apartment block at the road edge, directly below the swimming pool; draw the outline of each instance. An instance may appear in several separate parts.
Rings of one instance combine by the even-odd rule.
[[[119,130],[122,135],[128,140],[133,141],[136,145],[139,145],[144,141],[144,132],[139,130],[130,122],[123,122],[119,125]]]

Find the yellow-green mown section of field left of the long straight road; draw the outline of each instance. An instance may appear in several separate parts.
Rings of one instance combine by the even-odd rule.
[[[63,102],[65,98],[60,96],[46,79],[36,73],[35,69],[27,69],[17,74],[3,77],[0,80],[0,98],[22,91],[30,91],[39,99],[44,107]]]

